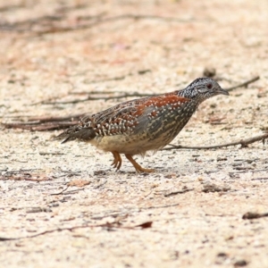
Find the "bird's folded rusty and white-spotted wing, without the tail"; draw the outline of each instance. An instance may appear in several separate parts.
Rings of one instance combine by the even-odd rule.
[[[103,135],[136,134],[147,130],[150,123],[157,129],[166,109],[178,109],[189,101],[173,92],[125,102],[96,113],[96,131]]]

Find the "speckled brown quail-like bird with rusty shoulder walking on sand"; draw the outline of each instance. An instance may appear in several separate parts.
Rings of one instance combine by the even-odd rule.
[[[121,155],[125,155],[136,172],[155,172],[140,166],[133,156],[157,152],[168,145],[198,105],[217,95],[228,96],[229,92],[211,78],[197,78],[184,89],[133,99],[87,115],[54,139],[62,139],[62,143],[78,139],[111,152],[116,171],[121,168]]]

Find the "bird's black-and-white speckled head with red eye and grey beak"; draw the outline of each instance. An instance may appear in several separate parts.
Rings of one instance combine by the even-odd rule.
[[[198,78],[191,82],[187,88],[180,91],[181,95],[191,99],[197,99],[198,103],[216,95],[229,95],[229,92],[222,89],[221,86],[210,78]]]

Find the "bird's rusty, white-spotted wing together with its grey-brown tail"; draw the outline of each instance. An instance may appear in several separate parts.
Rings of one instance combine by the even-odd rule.
[[[147,130],[149,124],[150,129],[154,130],[162,123],[166,109],[176,109],[189,101],[174,92],[134,99],[84,117],[79,125],[65,130],[56,139],[64,138],[63,142],[66,142],[76,138],[90,140],[96,136],[131,135]]]

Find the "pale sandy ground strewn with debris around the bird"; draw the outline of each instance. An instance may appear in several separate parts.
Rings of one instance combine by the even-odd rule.
[[[200,105],[172,143],[260,135],[267,10],[265,0],[1,0],[1,121],[96,113],[126,100],[104,96],[184,88],[209,67],[222,88],[260,80]],[[88,95],[99,100],[68,104]],[[267,142],[160,151],[138,157],[157,172],[136,174],[125,159],[114,172],[94,147],[50,141],[57,133],[0,129],[1,267],[268,267],[268,218],[242,219],[268,213]]]

